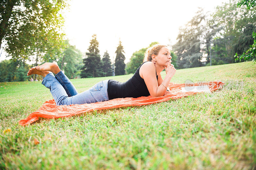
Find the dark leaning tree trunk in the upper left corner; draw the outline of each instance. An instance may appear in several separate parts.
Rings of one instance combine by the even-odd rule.
[[[0,23],[0,47],[2,45],[2,40],[4,38],[4,35],[6,33],[6,30],[9,27],[9,19],[12,15],[12,9],[14,5],[16,4],[16,0],[9,0],[6,4],[6,7],[4,8],[4,12],[1,14],[2,15],[2,22]]]

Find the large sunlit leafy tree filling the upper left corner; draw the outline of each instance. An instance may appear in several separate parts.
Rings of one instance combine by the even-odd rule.
[[[0,2],[0,46],[13,59],[56,59],[61,53],[65,0],[2,0]]]

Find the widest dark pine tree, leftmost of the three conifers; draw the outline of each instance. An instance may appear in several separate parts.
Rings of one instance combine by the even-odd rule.
[[[97,41],[97,35],[92,35],[92,40],[90,41],[90,46],[88,48],[89,53],[86,53],[86,58],[83,59],[84,67],[82,67],[81,77],[100,77],[100,55],[99,55],[99,42]]]

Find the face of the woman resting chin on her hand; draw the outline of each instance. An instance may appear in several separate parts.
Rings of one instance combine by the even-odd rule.
[[[162,47],[159,53],[156,55],[156,62],[160,66],[167,67],[168,62],[171,61],[171,59],[172,56],[170,50],[167,47]]]

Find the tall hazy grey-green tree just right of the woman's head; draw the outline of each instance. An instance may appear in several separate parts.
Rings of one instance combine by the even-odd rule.
[[[210,45],[221,27],[209,12],[199,8],[188,24],[180,28],[178,42],[173,46],[177,53],[177,68],[201,67],[203,60],[210,62]]]

